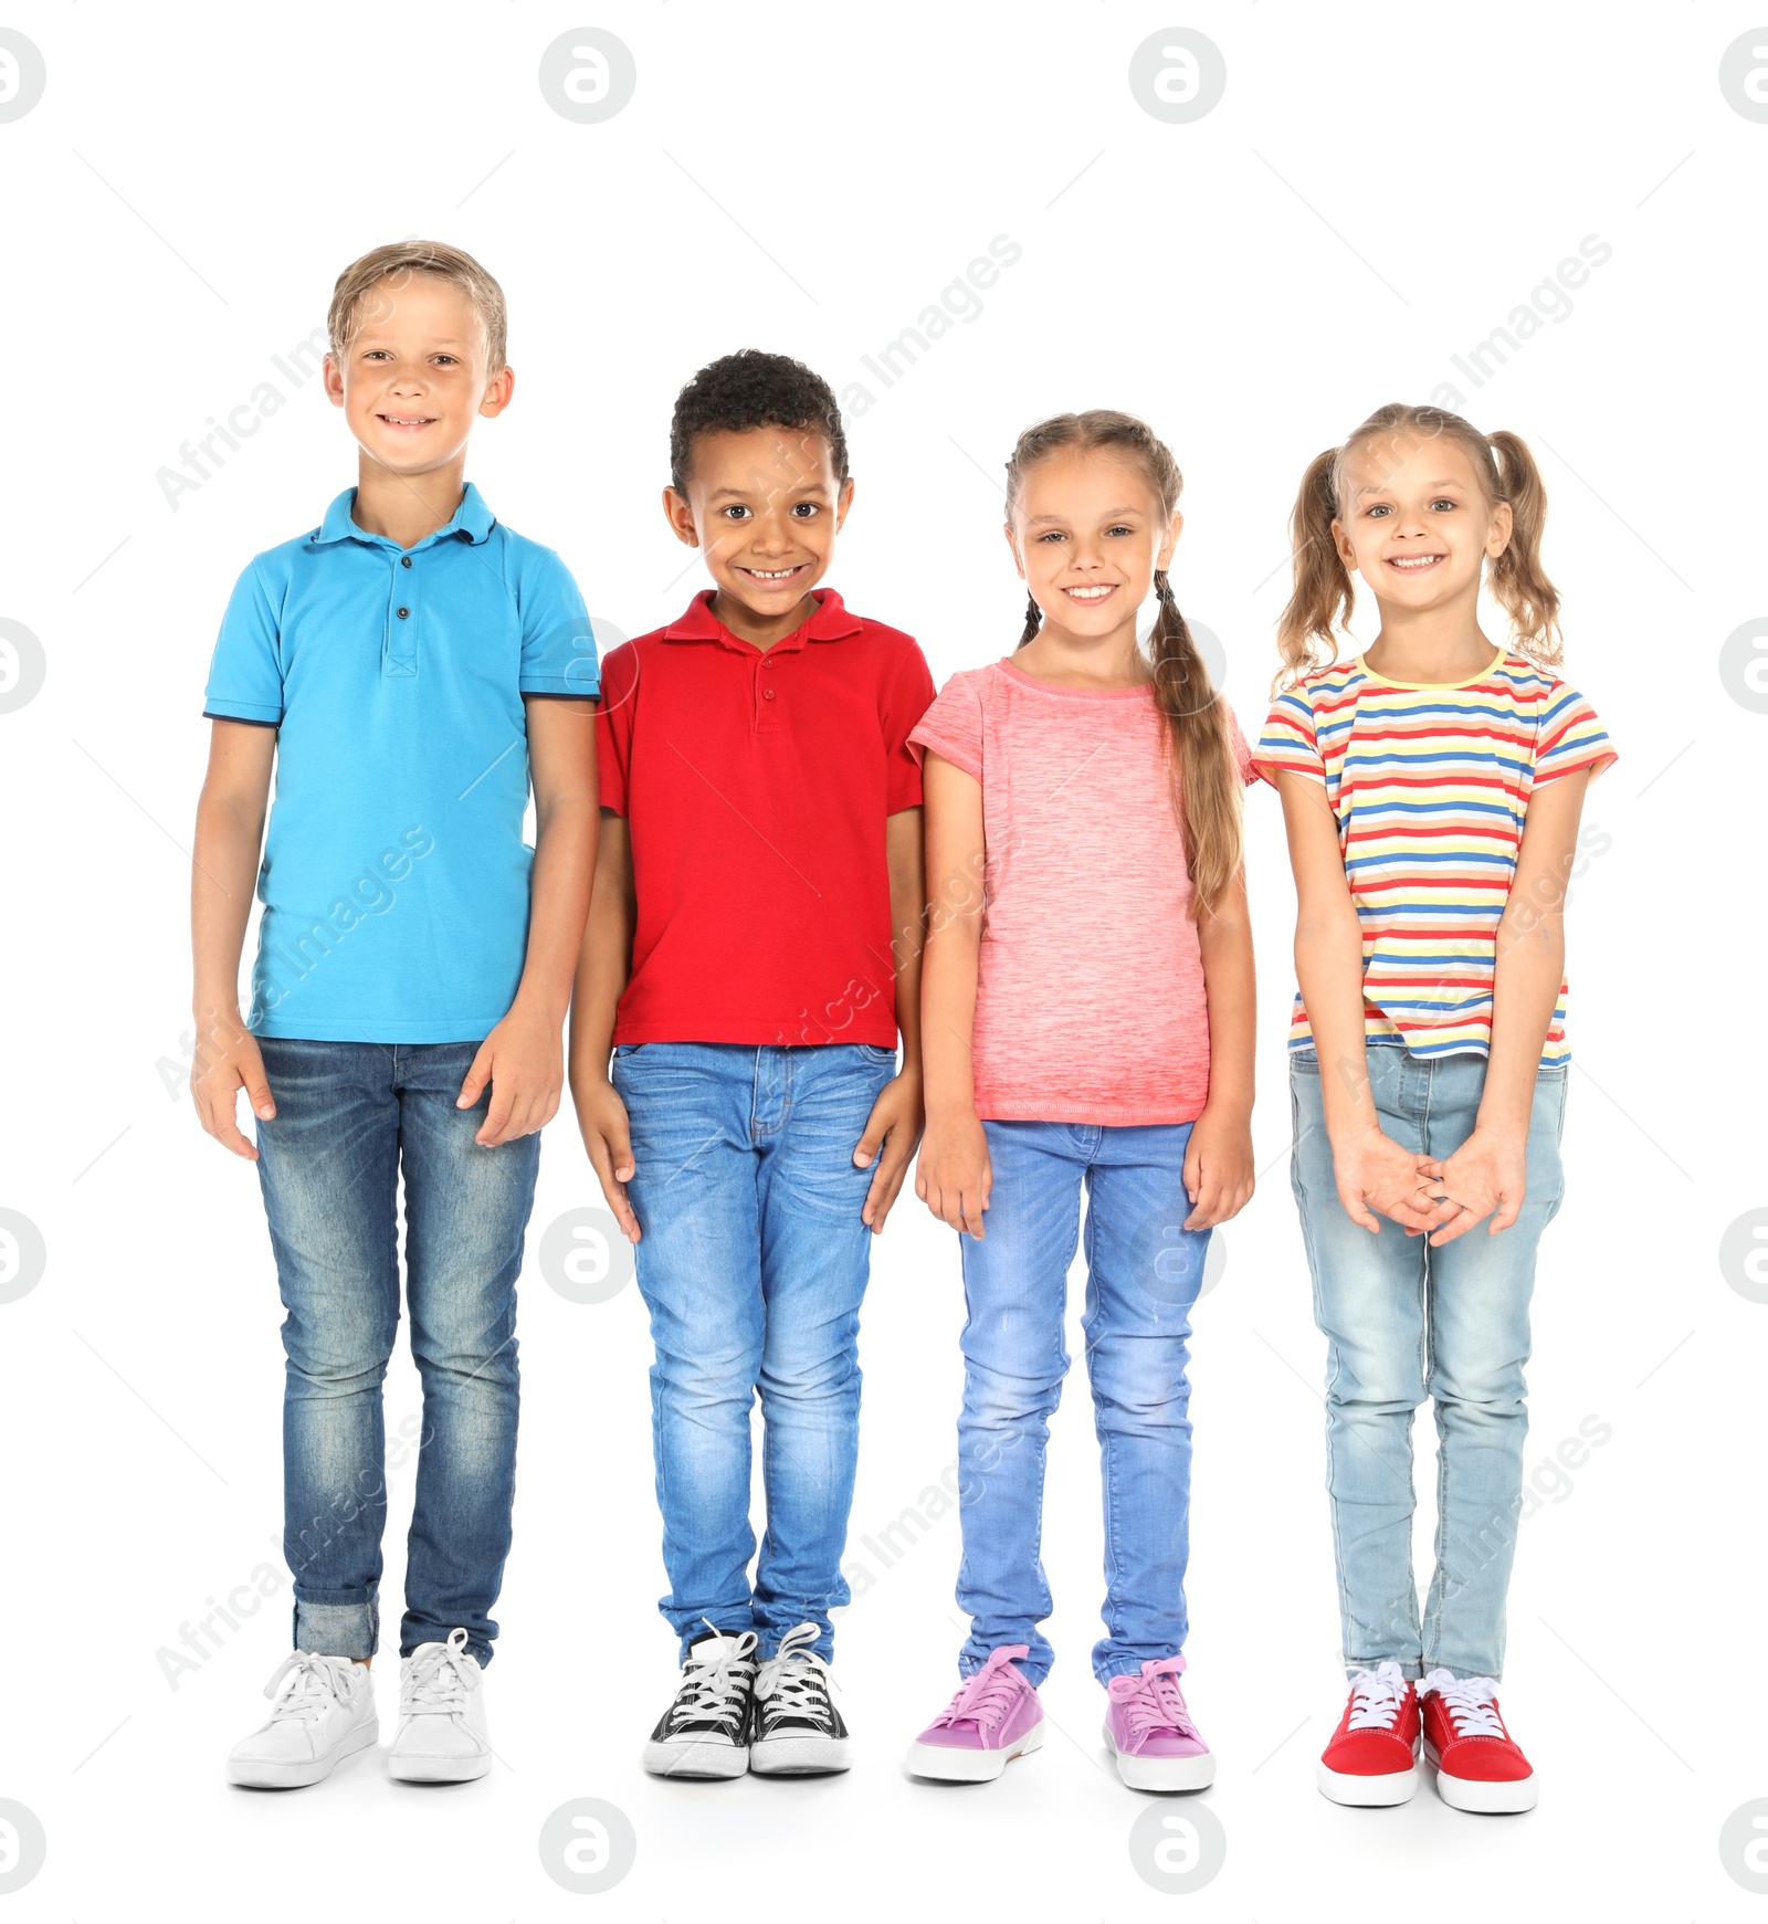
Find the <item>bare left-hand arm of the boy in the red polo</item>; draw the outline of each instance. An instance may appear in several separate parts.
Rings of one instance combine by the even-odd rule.
[[[608,1081],[608,1054],[614,1047],[614,1012],[633,966],[635,922],[633,837],[625,818],[604,808],[589,927],[583,931],[577,987],[571,993],[571,1101],[608,1208],[633,1243],[639,1241],[639,1218],[625,1193],[633,1176],[633,1141],[625,1104]]]

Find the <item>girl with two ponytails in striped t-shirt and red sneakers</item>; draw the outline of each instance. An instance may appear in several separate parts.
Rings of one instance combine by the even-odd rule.
[[[1614,752],[1553,673],[1547,496],[1516,435],[1387,406],[1308,468],[1258,772],[1283,797],[1301,995],[1291,1179],[1327,1339],[1351,1699],[1320,1787],[1526,1810],[1497,1707],[1522,1508],[1535,1247],[1560,1202],[1562,904]],[[1352,571],[1381,627],[1337,660]],[[1479,627],[1489,587],[1514,629]],[[1472,1233],[1476,1231],[1478,1233]],[[1412,1578],[1412,1410],[1435,1403],[1435,1574]],[[1422,1695],[1420,1695],[1422,1693]]]

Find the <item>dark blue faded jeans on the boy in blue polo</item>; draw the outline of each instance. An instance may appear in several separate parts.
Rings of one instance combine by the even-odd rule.
[[[289,1312],[283,1555],[294,1643],[325,1657],[379,1645],[400,1176],[423,1430],[398,1647],[408,1657],[458,1626],[483,1664],[496,1637],[516,1495],[516,1276],[541,1137],[473,1141],[491,1093],[469,1110],[454,1099],[477,1047],[260,1037],[277,1114],[258,1124],[258,1177]]]

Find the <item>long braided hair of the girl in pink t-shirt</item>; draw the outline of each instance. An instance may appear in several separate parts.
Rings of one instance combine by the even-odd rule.
[[[1179,506],[1185,477],[1154,429],[1116,408],[1089,408],[1085,414],[1056,414],[1020,435],[1006,464],[1008,527],[1025,475],[1060,448],[1124,456],[1154,491],[1162,521],[1170,521]],[[1202,920],[1222,906],[1241,872],[1241,779],[1227,731],[1227,704],[1210,685],[1210,671],[1162,571],[1154,575],[1154,589],[1160,596],[1149,635],[1154,708],[1172,768],[1174,808],[1185,835],[1191,916]],[[1039,620],[1033,600],[1025,610],[1022,648],[1037,633]]]

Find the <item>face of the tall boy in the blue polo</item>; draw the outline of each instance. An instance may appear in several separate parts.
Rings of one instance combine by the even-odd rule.
[[[391,273],[356,310],[325,392],[369,460],[421,475],[458,460],[483,416],[510,404],[514,373],[487,367],[485,325],[466,291],[435,273]]]

